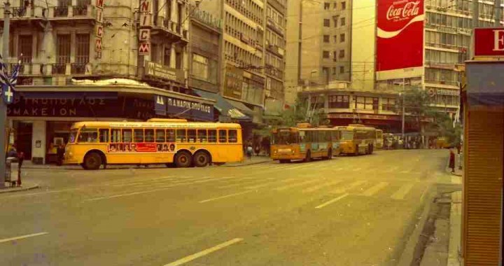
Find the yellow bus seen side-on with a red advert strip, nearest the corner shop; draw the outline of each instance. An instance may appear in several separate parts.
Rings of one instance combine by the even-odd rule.
[[[153,118],[147,122],[74,123],[64,163],[99,169],[101,165],[171,164],[205,167],[243,160],[241,126]]]

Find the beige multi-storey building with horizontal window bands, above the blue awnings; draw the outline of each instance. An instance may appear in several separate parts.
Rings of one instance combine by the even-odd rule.
[[[250,116],[253,123],[262,123],[266,87],[265,1],[201,1],[200,9],[223,20],[222,96]]]

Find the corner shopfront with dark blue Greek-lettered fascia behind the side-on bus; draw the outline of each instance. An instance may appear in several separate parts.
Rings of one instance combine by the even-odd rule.
[[[79,90],[80,89],[80,90]],[[16,92],[8,125],[18,151],[36,164],[55,162],[56,147],[68,141],[71,125],[85,120],[186,118],[215,121],[214,101],[155,88],[64,87]]]

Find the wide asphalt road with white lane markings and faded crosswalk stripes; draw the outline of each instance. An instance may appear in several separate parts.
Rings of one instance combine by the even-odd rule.
[[[447,151],[191,169],[27,169],[1,265],[395,265]]]

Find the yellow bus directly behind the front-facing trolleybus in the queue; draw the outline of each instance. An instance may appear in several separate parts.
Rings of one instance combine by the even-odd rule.
[[[371,154],[374,151],[376,129],[360,124],[335,127],[339,131],[339,151],[346,155]]]

